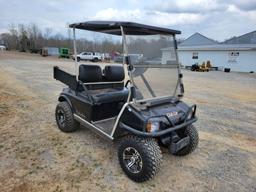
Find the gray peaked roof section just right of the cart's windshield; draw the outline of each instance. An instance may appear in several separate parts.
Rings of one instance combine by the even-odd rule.
[[[179,44],[179,47],[181,46],[201,46],[201,45],[215,45],[218,44],[217,41],[210,39],[208,37],[205,37],[204,35],[200,33],[194,33],[187,39],[185,39],[182,43]]]

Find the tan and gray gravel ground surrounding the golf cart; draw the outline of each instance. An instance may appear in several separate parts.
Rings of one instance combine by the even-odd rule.
[[[119,167],[115,143],[86,128],[57,129],[64,85],[52,78],[54,65],[74,71],[71,60],[0,52],[1,192],[256,191],[255,74],[184,71],[199,147],[182,158],[163,150],[160,172],[137,184]]]

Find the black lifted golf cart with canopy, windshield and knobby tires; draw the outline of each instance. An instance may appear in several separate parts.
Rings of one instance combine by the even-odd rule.
[[[76,74],[54,67],[54,78],[68,87],[61,92],[56,121],[63,132],[83,125],[103,138],[119,141],[118,158],[126,175],[151,179],[161,164],[161,147],[184,156],[198,145],[192,125],[196,105],[181,101],[184,93],[177,55],[180,31],[132,22],[75,23],[76,29],[121,39],[123,64],[78,64]],[[139,54],[135,59],[133,54]],[[77,58],[77,57],[75,57]],[[127,75],[126,75],[127,74]]]

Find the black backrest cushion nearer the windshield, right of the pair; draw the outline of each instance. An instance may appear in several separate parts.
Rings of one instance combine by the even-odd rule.
[[[124,68],[122,65],[106,65],[104,68],[105,81],[123,81]]]

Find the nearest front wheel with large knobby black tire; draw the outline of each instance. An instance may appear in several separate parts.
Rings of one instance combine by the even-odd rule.
[[[129,153],[132,154],[135,151],[139,154],[137,155],[139,156],[138,161],[135,161],[138,166],[134,164],[134,167],[129,168],[132,161],[131,159],[126,159],[126,157],[129,156]],[[126,136],[119,144],[118,159],[121,168],[131,180],[143,182],[153,178],[159,170],[162,162],[162,153],[157,142],[152,138]],[[136,166],[139,169],[134,171]]]

